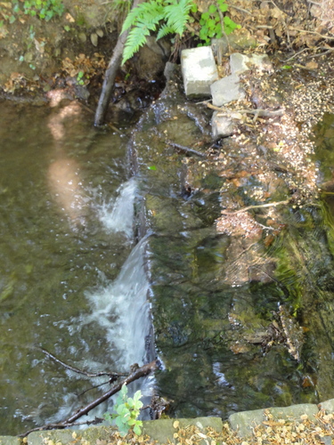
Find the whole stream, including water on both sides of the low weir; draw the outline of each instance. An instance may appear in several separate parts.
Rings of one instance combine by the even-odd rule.
[[[171,417],[334,397],[330,194],[283,207],[274,234],[217,233],[222,206],[261,184],[231,191],[216,167],[168,145],[206,135],[208,111],[183,105],[169,85],[113,134],[76,101],[0,103],[0,434],[61,421],[110,387],[42,349],[90,372],[127,373],[157,355],[155,376],[132,391],[163,397]],[[330,190],[330,117],[323,125],[314,161]],[[220,150],[245,168],[245,153]]]

